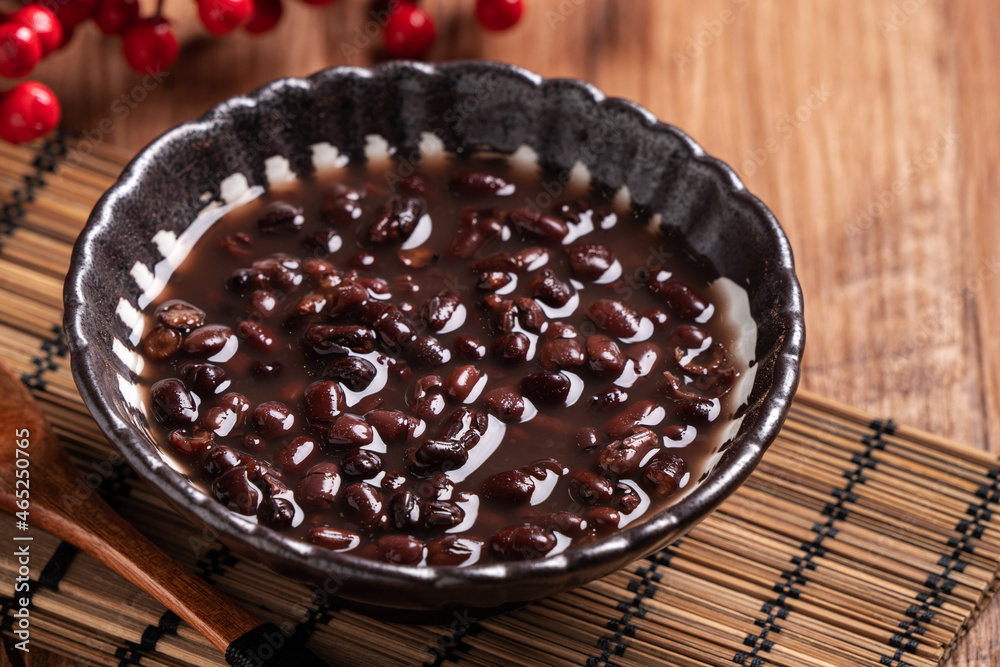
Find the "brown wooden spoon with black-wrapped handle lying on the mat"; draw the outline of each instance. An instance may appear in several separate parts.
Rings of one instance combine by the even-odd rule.
[[[326,665],[285,637],[273,624],[261,624],[184,569],[92,493],[67,503],[79,472],[24,384],[0,363],[0,508],[14,514],[16,490],[29,492],[27,520],[32,527],[70,542],[159,600],[226,653],[231,665]],[[18,460],[27,463],[18,463]],[[21,484],[16,471],[27,470]],[[20,518],[20,517],[19,517]]]

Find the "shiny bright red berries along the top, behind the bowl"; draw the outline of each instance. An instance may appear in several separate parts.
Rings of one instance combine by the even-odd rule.
[[[251,34],[274,28],[282,0],[195,0],[202,25],[213,35],[242,27]],[[336,0],[302,0],[325,6]],[[393,58],[420,58],[430,50],[437,29],[417,0],[381,0],[387,19],[385,50]],[[105,35],[120,35],[125,62],[140,74],[170,69],[179,46],[170,21],[162,16],[163,0],[152,16],[139,15],[139,0],[32,0],[0,19],[0,76],[20,79],[38,62],[65,46],[77,26],[93,19]],[[517,23],[523,0],[476,0],[476,19],[488,30]],[[0,139],[22,143],[51,132],[59,123],[59,100],[47,86],[24,81],[0,92]]]

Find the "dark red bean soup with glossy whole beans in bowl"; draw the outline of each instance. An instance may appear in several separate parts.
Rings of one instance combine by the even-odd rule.
[[[247,521],[414,566],[543,558],[675,502],[736,432],[740,290],[627,192],[442,154],[249,199],[142,340],[164,453]]]

